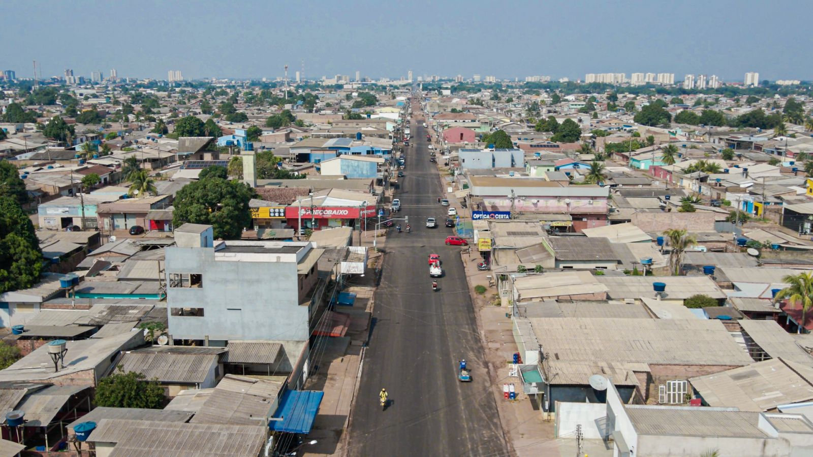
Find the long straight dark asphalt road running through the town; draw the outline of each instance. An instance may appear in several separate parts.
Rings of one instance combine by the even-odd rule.
[[[415,122],[406,148],[406,176],[399,178],[398,217],[409,216],[412,233],[390,233],[376,292],[372,334],[363,361],[350,424],[348,455],[508,455],[493,386],[469,295],[461,246],[445,246],[446,207],[426,131]],[[422,124],[422,122],[421,122]],[[435,217],[437,228],[426,228]],[[402,227],[405,225],[401,221]],[[428,255],[441,255],[445,276],[432,290]],[[472,382],[458,381],[467,359]],[[381,410],[378,394],[389,392]]]

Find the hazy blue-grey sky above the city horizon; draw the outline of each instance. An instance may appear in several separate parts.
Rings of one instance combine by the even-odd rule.
[[[810,0],[6,0],[0,69],[31,77],[716,74],[813,79]]]

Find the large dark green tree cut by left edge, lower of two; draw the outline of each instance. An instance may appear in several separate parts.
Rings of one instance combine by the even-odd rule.
[[[0,294],[32,287],[41,272],[34,224],[15,198],[0,197]]]

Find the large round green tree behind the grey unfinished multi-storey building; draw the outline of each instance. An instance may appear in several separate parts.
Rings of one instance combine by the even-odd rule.
[[[246,184],[209,176],[178,190],[172,224],[210,224],[215,238],[240,239],[243,228],[251,225],[249,200],[255,196]]]

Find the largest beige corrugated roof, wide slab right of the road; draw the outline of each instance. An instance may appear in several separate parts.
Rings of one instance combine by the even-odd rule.
[[[718,320],[531,319],[551,360],[747,365],[753,360]]]

